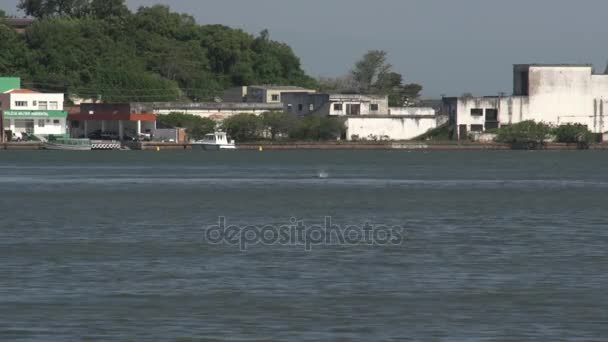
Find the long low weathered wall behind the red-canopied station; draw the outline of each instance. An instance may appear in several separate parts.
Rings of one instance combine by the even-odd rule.
[[[132,103],[131,108],[138,112],[166,115],[169,113],[192,114],[215,121],[222,121],[233,115],[246,113],[261,115],[266,112],[282,111],[280,103],[177,103],[150,102]]]

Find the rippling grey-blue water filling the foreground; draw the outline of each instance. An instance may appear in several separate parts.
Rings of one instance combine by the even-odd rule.
[[[592,151],[2,151],[0,340],[605,340],[606,170]],[[241,251],[206,240],[219,216],[405,240]]]

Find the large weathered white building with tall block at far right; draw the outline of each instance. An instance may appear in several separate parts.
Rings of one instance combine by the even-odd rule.
[[[458,139],[526,120],[577,123],[604,133],[608,130],[607,102],[608,75],[594,74],[591,65],[517,64],[513,67],[513,95],[446,97],[442,112],[449,116]]]

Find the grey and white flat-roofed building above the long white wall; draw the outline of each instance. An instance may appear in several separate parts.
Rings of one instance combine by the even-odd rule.
[[[283,110],[306,115],[388,115],[388,96],[284,93]]]

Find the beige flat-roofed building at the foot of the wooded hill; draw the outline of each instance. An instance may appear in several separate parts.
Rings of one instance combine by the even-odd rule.
[[[283,93],[316,93],[316,90],[295,86],[242,86],[226,89],[223,102],[281,103]]]

